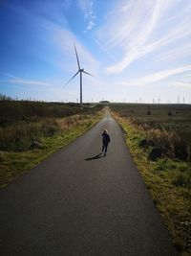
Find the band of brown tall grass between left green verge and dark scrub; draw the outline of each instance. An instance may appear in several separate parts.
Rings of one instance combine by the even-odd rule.
[[[22,121],[0,128],[0,151],[28,151],[41,147],[42,137],[50,137],[55,133],[64,134],[70,128],[84,124],[88,126],[86,120],[91,120],[91,116],[74,115],[65,118],[47,118],[38,122]]]

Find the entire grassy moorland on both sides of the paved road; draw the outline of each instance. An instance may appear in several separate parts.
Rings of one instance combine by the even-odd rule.
[[[91,128],[103,106],[0,101],[0,187]],[[110,109],[180,255],[190,255],[191,105]]]

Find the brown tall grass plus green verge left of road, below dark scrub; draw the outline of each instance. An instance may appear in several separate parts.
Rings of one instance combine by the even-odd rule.
[[[98,109],[84,107],[72,116],[37,116],[0,126],[0,188],[91,128],[102,115]]]

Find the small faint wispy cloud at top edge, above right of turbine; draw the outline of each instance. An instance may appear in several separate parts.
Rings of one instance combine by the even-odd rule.
[[[85,33],[91,31],[95,26],[96,14],[94,12],[94,1],[93,0],[78,0],[78,6],[82,12],[84,12],[84,18],[87,22]]]

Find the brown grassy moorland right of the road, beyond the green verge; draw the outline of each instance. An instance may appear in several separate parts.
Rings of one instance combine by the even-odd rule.
[[[191,161],[190,105],[127,104],[111,105],[111,108],[121,117],[128,118],[156,147],[165,149],[169,157]]]

